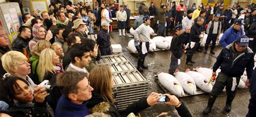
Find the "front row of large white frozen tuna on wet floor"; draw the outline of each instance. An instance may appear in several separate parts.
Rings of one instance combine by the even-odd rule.
[[[212,77],[212,69],[197,67],[195,70],[196,71],[186,70],[186,72],[176,72],[174,76],[168,73],[159,73],[158,80],[170,93],[178,97],[185,96],[184,91],[189,95],[195,95],[197,87],[210,93],[214,85],[214,82],[209,83]],[[218,75],[219,72],[220,69],[216,71],[216,74]],[[242,77],[238,87],[246,88],[246,80],[246,76]]]

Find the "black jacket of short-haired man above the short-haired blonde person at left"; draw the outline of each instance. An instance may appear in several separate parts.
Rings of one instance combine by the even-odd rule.
[[[22,36],[18,36],[14,41],[13,41],[13,51],[19,51],[22,52],[23,48],[26,48],[28,45],[28,42],[30,39],[24,39]]]

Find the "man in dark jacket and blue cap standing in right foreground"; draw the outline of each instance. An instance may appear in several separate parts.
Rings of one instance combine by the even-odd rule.
[[[210,92],[207,108],[205,108],[203,114],[209,114],[216,98],[225,86],[227,95],[225,111],[230,112],[232,101],[236,96],[237,86],[245,68],[248,78],[245,83],[249,86],[249,80],[253,73],[254,56],[248,45],[249,37],[242,35],[232,44],[223,48],[220,55],[218,55],[217,61],[213,65],[212,75],[216,76],[216,70],[219,67],[221,72],[218,73],[216,82]]]

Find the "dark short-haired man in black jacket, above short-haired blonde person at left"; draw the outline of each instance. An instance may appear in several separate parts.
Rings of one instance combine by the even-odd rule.
[[[21,26],[19,28],[19,36],[13,41],[13,50],[22,52],[23,48],[28,45],[30,41],[31,31],[27,26]]]

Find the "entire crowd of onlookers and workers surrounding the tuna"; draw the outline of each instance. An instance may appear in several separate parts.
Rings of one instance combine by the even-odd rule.
[[[96,4],[91,9],[86,2],[77,5],[69,2],[63,6],[56,1],[49,5],[49,12],[34,10],[32,16],[22,15],[23,26],[12,46],[9,46],[6,30],[0,27],[0,116],[120,116],[112,92],[112,72],[107,66],[97,66],[96,61],[112,54],[112,18],[118,22],[119,36],[125,36],[130,30],[130,15],[131,10],[125,2],[118,10],[114,3]],[[151,16],[154,16],[153,22]],[[196,9],[196,5],[185,6],[183,0],[179,5],[174,1],[171,6],[167,3],[159,8],[154,3],[148,8],[142,2],[139,18],[132,27],[140,72],[148,69],[144,64],[150,41],[148,26],[159,36],[170,35],[174,30],[170,74],[177,70],[183,53],[187,54],[187,65],[195,63],[192,57],[196,51],[201,52],[200,40],[204,34],[208,34],[204,53],[212,41],[210,53],[214,54],[216,40],[224,32],[219,39],[223,49],[213,66],[213,75],[219,67],[221,75],[217,77],[203,113],[209,114],[225,86],[228,94],[225,108],[228,112],[231,110],[237,88],[237,85],[233,88],[232,82],[235,79],[239,82],[246,68],[250,79],[246,83],[250,84],[252,95],[247,116],[255,115],[256,99],[253,96],[256,93],[252,83],[256,76],[253,74],[256,52],[254,4],[245,9],[229,5],[224,10],[223,3],[216,3],[214,7],[202,3]],[[39,85],[46,80],[51,88]],[[126,108],[125,114],[133,112],[137,115],[160,103],[161,95],[153,92],[139,99]],[[177,97],[165,95],[170,98],[165,104],[175,106],[180,116],[192,116]],[[166,112],[159,116],[168,115]]]

